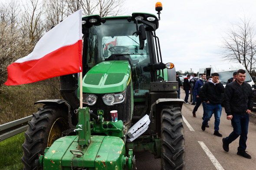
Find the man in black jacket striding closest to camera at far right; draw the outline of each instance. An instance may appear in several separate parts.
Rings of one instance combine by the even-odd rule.
[[[249,125],[249,114],[253,109],[253,90],[252,87],[244,82],[246,72],[242,69],[237,71],[237,79],[226,85],[223,104],[226,112],[226,119],[231,120],[233,132],[222,139],[224,151],[229,151],[229,144],[239,139],[237,154],[246,158],[251,158],[246,153],[246,140]]]

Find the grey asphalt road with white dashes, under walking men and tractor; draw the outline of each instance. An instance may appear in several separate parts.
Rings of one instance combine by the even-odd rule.
[[[185,98],[184,90],[181,90],[181,99]],[[190,100],[190,97],[189,97]],[[194,118],[192,110],[194,105],[183,104],[182,115],[189,125],[194,129],[190,131],[184,123],[185,130],[185,164],[186,170],[256,170],[256,119],[250,116],[247,148],[252,159],[246,159],[236,154],[239,138],[230,144],[230,151],[225,152],[222,148],[222,138],[228,136],[232,131],[231,121],[226,119],[224,107],[220,118],[220,133],[223,137],[213,135],[214,117],[208,122],[210,128],[201,130],[203,106],[201,105]],[[256,108],[253,108],[256,113]],[[202,145],[202,146],[201,146]],[[209,152],[210,151],[210,152]],[[210,154],[211,153],[211,154]],[[161,160],[154,159],[154,155],[147,152],[135,153],[137,170],[160,170]],[[214,164],[213,164],[214,163]],[[135,168],[134,168],[135,169]]]

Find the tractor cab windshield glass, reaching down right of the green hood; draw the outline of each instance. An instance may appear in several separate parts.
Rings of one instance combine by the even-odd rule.
[[[135,98],[141,98],[150,89],[151,74],[144,67],[152,63],[148,49],[149,32],[144,49],[139,49],[136,24],[127,19],[106,20],[99,26],[92,26],[86,35],[87,71],[103,61],[113,60],[113,55],[123,55],[131,60],[131,75]],[[145,70],[145,71],[144,71]]]

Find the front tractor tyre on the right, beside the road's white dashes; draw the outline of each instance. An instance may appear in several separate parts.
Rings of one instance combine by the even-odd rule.
[[[161,170],[185,169],[185,140],[179,106],[163,106],[161,111]]]

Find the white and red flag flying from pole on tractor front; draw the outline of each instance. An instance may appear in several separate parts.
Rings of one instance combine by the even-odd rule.
[[[10,64],[7,71],[7,86],[81,72],[82,10],[46,32],[33,51]]]

